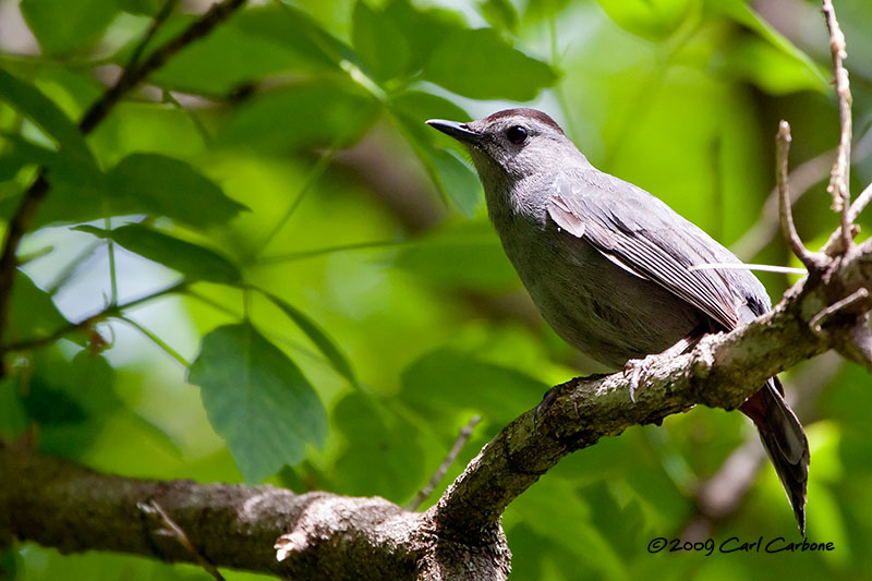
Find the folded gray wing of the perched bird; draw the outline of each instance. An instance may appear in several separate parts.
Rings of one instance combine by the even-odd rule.
[[[558,174],[549,191],[548,215],[560,228],[724,328],[768,310],[768,296],[749,270],[690,270],[739,259],[644,190],[595,169],[579,169]]]

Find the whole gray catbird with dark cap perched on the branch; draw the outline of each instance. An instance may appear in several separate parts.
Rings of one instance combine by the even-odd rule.
[[[592,359],[619,368],[771,308],[750,270],[690,269],[739,259],[644,190],[591,166],[542,111],[427,123],[469,148],[491,220],[533,302]],[[804,535],[809,445],[778,378],[740,409],[756,424]]]

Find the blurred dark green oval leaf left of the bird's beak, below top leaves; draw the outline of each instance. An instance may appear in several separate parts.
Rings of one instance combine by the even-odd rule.
[[[247,100],[216,140],[279,152],[348,145],[370,128],[376,111],[372,98],[349,82],[306,82]]]

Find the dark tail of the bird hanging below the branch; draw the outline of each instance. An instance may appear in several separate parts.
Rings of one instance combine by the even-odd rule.
[[[799,530],[806,536],[809,441],[796,414],[784,400],[784,388],[778,378],[766,382],[766,386],[739,409],[756,425],[763,447],[794,507]]]

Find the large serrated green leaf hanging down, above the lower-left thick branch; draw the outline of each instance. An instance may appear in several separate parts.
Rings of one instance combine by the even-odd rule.
[[[293,361],[250,324],[203,338],[187,380],[201,387],[209,421],[249,483],[258,483],[323,445],[327,414]]]

